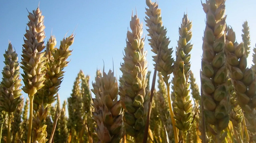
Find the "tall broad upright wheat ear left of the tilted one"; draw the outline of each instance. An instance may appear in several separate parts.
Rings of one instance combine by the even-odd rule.
[[[124,113],[124,124],[128,135],[135,138],[135,142],[142,142],[146,123],[147,100],[150,91],[147,86],[147,60],[142,38],[142,24],[137,15],[131,17],[131,32],[127,32],[126,47],[124,49],[124,63],[121,64],[123,76],[120,78],[119,95]]]

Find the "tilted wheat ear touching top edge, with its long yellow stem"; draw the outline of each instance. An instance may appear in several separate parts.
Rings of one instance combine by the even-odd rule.
[[[172,110],[172,102],[170,99],[170,85],[169,78],[170,74],[172,74],[174,66],[173,66],[173,58],[172,58],[172,48],[168,48],[170,43],[169,38],[166,37],[167,30],[162,25],[162,17],[161,17],[161,9],[158,8],[157,3],[152,3],[150,0],[146,0],[146,4],[148,8],[146,8],[146,26],[148,27],[148,36],[151,39],[148,39],[151,46],[151,51],[153,51],[156,56],[153,56],[154,60],[157,64],[157,71],[161,72],[163,75],[163,80],[165,81],[167,87],[167,96],[170,108],[170,114],[172,118],[172,124],[175,124],[175,120],[173,118],[173,110]],[[159,60],[157,61],[159,57]],[[173,126],[175,142],[178,143],[178,131],[175,126]]]

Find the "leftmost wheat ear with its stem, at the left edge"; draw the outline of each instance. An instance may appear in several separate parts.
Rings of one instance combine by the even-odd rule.
[[[19,78],[19,63],[18,54],[13,51],[12,44],[9,43],[7,51],[4,54],[4,69],[3,80],[1,82],[1,108],[8,112],[8,136],[7,143],[11,143],[11,122],[12,113],[16,110],[18,104],[21,102],[20,96],[20,81]]]

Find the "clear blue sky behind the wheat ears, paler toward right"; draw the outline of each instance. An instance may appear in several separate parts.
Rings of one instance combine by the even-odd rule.
[[[204,0],[203,0],[204,2]],[[3,53],[8,48],[10,40],[19,54],[21,60],[23,35],[25,34],[28,21],[28,12],[32,12],[38,6],[38,0],[30,1],[0,1],[0,61],[4,60]],[[159,0],[159,8],[162,11],[163,25],[167,28],[167,36],[170,37],[170,47],[173,47],[173,55],[178,39],[178,27],[184,12],[192,20],[192,43],[191,70],[195,74],[196,81],[200,87],[199,71],[202,56],[202,37],[205,28],[205,13],[200,0]],[[247,20],[251,34],[251,54],[248,57],[248,65],[252,63],[252,48],[256,43],[255,0],[227,0],[226,15],[227,24],[231,25],[236,32],[237,41],[240,42],[243,21]],[[97,67],[105,70],[112,69],[112,58],[114,60],[115,75],[121,76],[120,63],[123,62],[123,51],[129,21],[132,10],[137,9],[140,22],[143,23],[143,34],[147,35],[145,21],[145,0],[41,0],[40,10],[45,16],[46,39],[50,37],[51,31],[57,39],[57,46],[64,35],[70,35],[75,30],[75,41],[70,47],[74,49],[69,59],[71,62],[64,70],[65,76],[59,90],[61,103],[66,100],[72,90],[74,80],[80,69],[84,74],[90,75],[91,82],[94,80]],[[147,36],[148,37],[148,36]],[[148,69],[153,71],[151,47],[146,40],[145,49],[148,51]],[[4,63],[0,62],[2,70]],[[23,72],[20,69],[20,72]],[[0,75],[1,77],[2,75]],[[151,79],[153,74],[151,74]],[[151,80],[152,81],[152,80]],[[150,83],[151,83],[150,81]],[[27,98],[27,95],[23,96]],[[93,95],[94,96],[94,95]]]

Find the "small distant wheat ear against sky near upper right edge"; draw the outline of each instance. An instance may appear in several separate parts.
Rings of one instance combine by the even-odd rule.
[[[250,44],[251,44],[251,41],[250,41],[250,32],[249,32],[249,26],[248,26],[248,22],[245,21],[242,25],[243,29],[242,29],[242,40],[243,40],[243,43],[244,43],[244,50],[245,50],[245,54],[246,54],[246,57],[248,57],[248,55],[250,54]]]

